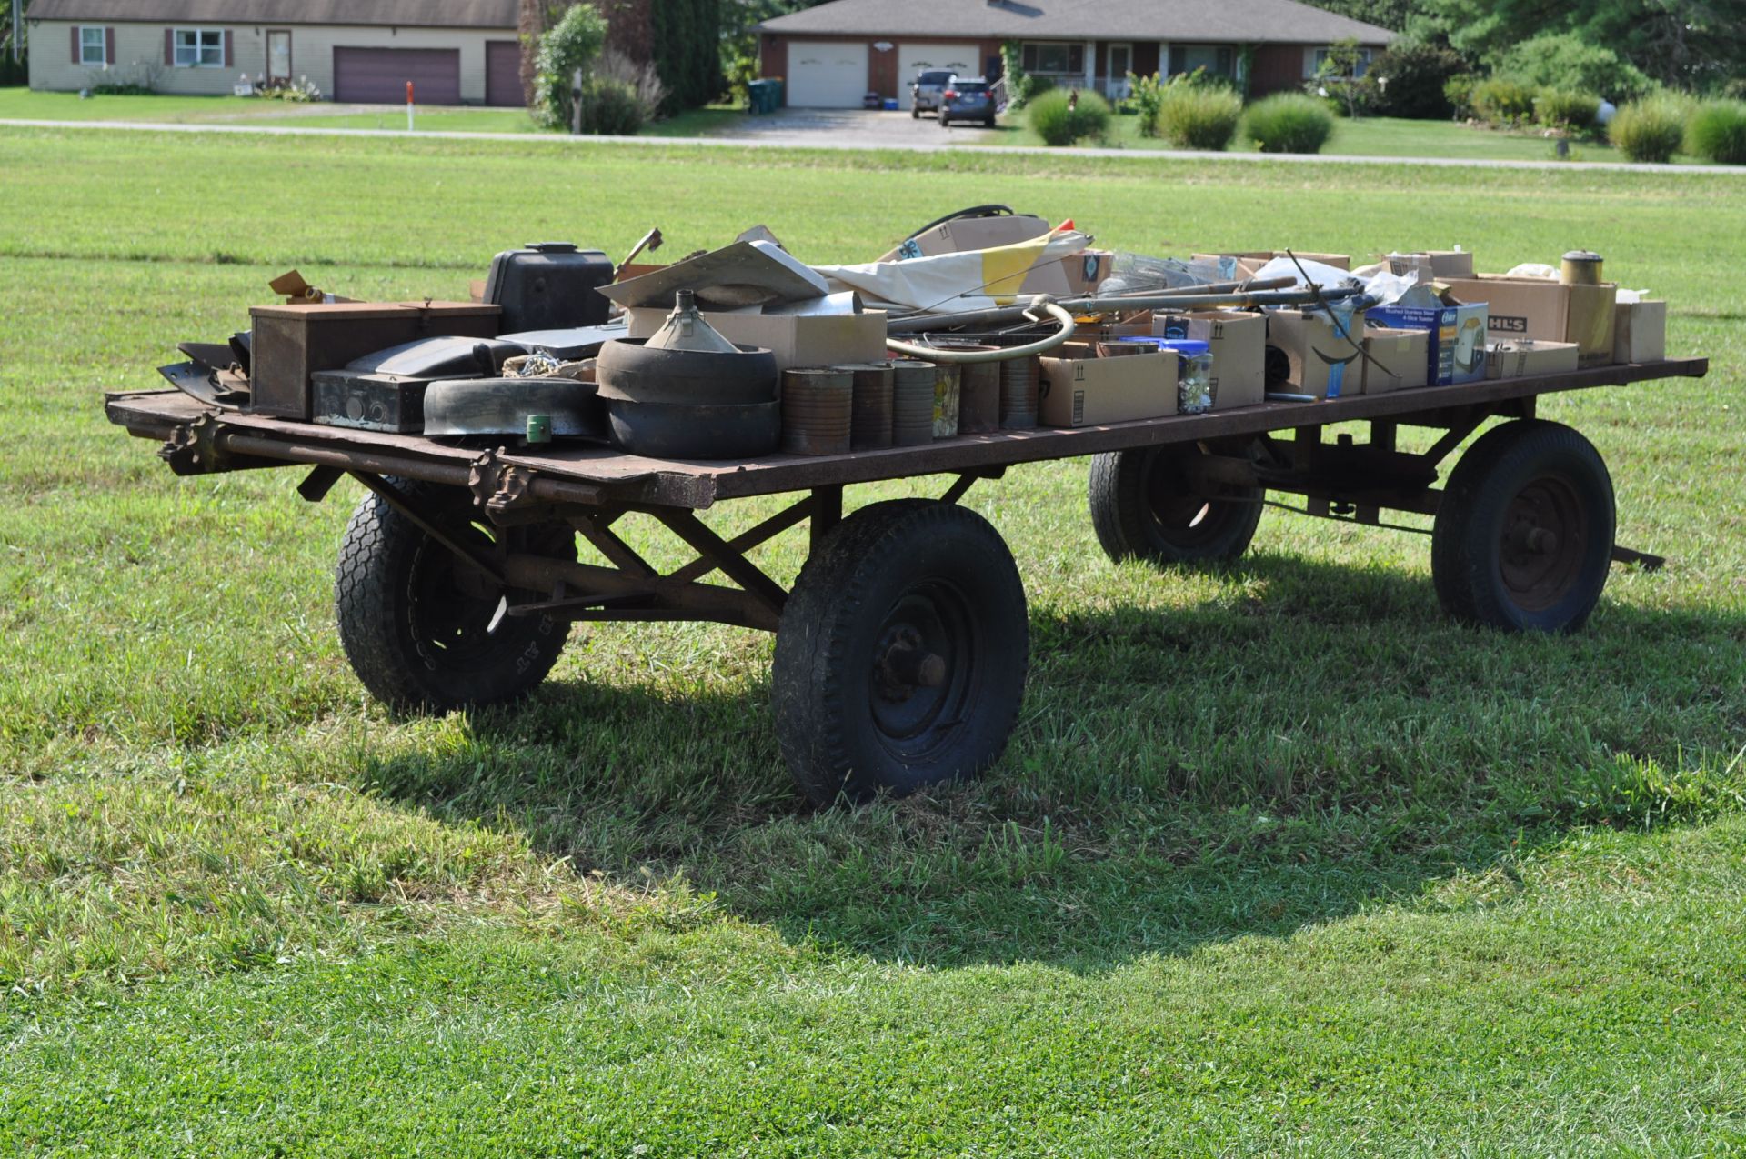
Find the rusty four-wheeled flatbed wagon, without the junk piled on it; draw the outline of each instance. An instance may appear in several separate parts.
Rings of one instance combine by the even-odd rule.
[[[597,445],[482,450],[417,435],[213,408],[178,391],[110,394],[112,422],[162,440],[178,475],[304,464],[323,499],[368,489],[335,573],[340,641],[363,684],[402,710],[513,700],[555,663],[574,620],[707,620],[777,634],[772,703],[800,787],[842,794],[971,777],[1000,754],[1028,656],[1025,592],[1000,536],[957,499],[1007,466],[1095,456],[1091,520],[1114,559],[1229,560],[1268,490],[1308,515],[1381,524],[1433,517],[1444,609],[1505,630],[1580,627],[1615,559],[1613,489],[1594,447],[1535,417],[1542,394],[1702,377],[1702,358],[1612,365],[1316,403],[1261,403],[1074,429],[964,435],[924,447],[756,461],[648,459]],[[1439,489],[1439,470],[1488,419]],[[1367,436],[1327,436],[1339,422]],[[1397,447],[1400,426],[1442,435]],[[955,475],[938,499],[845,515],[852,483]],[[803,492],[723,538],[700,511]],[[695,559],[662,574],[613,524],[643,511]],[[791,590],[747,552],[808,524]],[[576,559],[576,536],[608,566]],[[721,573],[730,583],[711,581]]]

